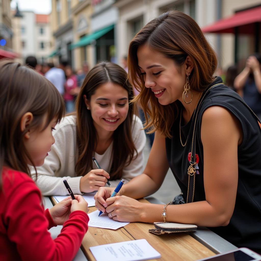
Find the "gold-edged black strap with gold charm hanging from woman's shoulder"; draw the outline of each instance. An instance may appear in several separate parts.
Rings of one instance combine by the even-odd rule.
[[[200,104],[201,102],[203,101],[205,95],[207,94],[207,92],[212,89],[213,87],[217,86],[217,85],[220,85],[220,84],[223,84],[223,83],[218,83],[218,84],[214,84],[213,86],[209,87],[209,89],[205,92],[204,96],[202,97],[200,103],[199,103],[199,106],[198,106],[198,103],[197,103],[197,106],[198,106],[198,109],[197,109],[197,106],[196,106],[196,109],[197,109],[197,114],[196,114],[196,117],[195,117],[195,123],[194,123],[194,129],[193,129],[193,137],[192,137],[192,147],[191,147],[191,161],[192,161],[192,158],[193,158],[193,155],[192,155],[192,151],[193,151],[193,141],[194,141],[194,134],[195,134],[195,128],[196,128],[196,122],[197,122],[197,116],[198,116],[198,111],[199,111],[199,107],[200,107]],[[195,109],[195,111],[196,111]],[[195,114],[195,111],[194,111],[194,114]],[[194,117],[194,115],[193,115]],[[195,148],[195,153],[194,153],[194,163],[190,163],[189,167],[188,167],[188,192],[189,192],[189,181],[190,181],[190,176],[194,176],[194,182],[193,182],[193,194],[192,194],[192,201],[194,200],[194,192],[195,192],[195,174],[196,174],[196,169],[195,169],[195,165],[197,164],[196,163],[196,159],[195,159],[195,156],[196,156],[196,148]],[[187,194],[187,203],[188,203],[188,194]]]

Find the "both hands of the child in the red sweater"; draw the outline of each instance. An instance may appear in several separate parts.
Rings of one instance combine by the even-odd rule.
[[[84,198],[81,195],[74,195],[74,197],[75,200],[72,200],[71,196],[69,196],[49,209],[51,217],[56,225],[63,225],[73,211],[81,210],[86,214],[88,213],[88,203]]]

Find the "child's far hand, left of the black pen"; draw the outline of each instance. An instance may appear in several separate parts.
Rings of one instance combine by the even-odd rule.
[[[63,223],[69,218],[71,213],[71,204],[72,198],[69,196],[49,209],[52,219],[56,225],[63,225]]]

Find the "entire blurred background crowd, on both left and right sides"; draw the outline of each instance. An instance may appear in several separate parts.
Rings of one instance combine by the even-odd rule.
[[[82,68],[74,72],[67,61],[55,67],[53,63],[38,64],[34,56],[26,59],[26,64],[34,68],[38,73],[44,75],[51,81],[64,98],[66,112],[70,113],[75,110],[75,98],[80,91],[80,87],[89,71],[87,63],[82,64]],[[127,57],[122,58],[124,69],[127,69]],[[254,113],[261,118],[261,55],[250,55],[245,67],[239,68],[238,64],[230,66],[224,72],[218,68],[216,75],[221,76],[224,84],[237,92],[246,102]],[[138,91],[134,90],[137,95]],[[145,121],[143,112],[139,111],[140,117]],[[149,135],[150,143],[153,142],[153,135]]]

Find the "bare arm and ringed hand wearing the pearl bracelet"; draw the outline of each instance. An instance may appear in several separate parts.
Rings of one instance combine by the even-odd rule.
[[[169,205],[166,219],[169,222],[198,226],[226,226],[235,206],[238,184],[237,149],[242,140],[241,127],[226,109],[212,106],[203,114],[201,140],[204,148],[206,200],[183,205]],[[184,175],[187,174],[184,173]],[[195,189],[197,189],[197,184]],[[148,189],[145,188],[145,190]],[[163,205],[139,203],[128,197],[118,196],[107,199],[106,203],[108,205],[106,212],[112,211],[114,220],[163,221],[161,217]]]

